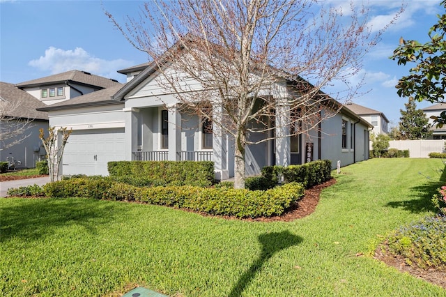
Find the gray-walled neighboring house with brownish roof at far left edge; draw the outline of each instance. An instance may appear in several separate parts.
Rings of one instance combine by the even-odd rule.
[[[36,110],[45,106],[29,93],[17,89],[14,84],[0,82],[0,135],[3,137],[0,139],[0,162],[9,161],[16,168],[26,168],[36,167],[36,162],[45,158],[45,149],[39,139],[39,129],[48,128],[48,114]],[[13,133],[16,135],[11,138],[6,137],[6,133],[10,130],[20,133]],[[20,143],[9,146],[23,137],[26,138]]]

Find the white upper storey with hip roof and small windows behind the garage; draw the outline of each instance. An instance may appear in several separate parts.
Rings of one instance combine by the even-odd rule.
[[[119,83],[115,79],[92,75],[86,71],[70,70],[65,73],[21,82],[15,86],[46,105],[52,105],[109,86],[116,86],[116,84]]]

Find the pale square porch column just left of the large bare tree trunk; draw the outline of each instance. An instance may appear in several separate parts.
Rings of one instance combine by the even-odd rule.
[[[213,121],[213,155],[212,160],[214,162],[215,179],[222,181],[229,178],[228,171],[228,151],[227,151],[227,135],[223,131],[222,127],[217,123],[222,123],[222,107],[213,106],[212,116]]]

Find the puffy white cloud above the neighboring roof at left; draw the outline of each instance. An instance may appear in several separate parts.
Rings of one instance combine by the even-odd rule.
[[[123,75],[116,73],[116,71],[132,65],[132,61],[124,59],[107,61],[96,58],[82,49],[82,47],[76,47],[75,50],[49,47],[45,50],[44,56],[29,61],[29,66],[40,70],[49,70],[51,74],[63,73],[69,70],[85,70],[95,75],[118,78],[120,80],[123,79]]]

